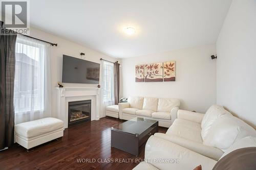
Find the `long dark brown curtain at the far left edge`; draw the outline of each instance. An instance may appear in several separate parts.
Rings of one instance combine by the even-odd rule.
[[[10,32],[0,39],[0,150],[10,147],[14,137],[14,76],[16,35]]]

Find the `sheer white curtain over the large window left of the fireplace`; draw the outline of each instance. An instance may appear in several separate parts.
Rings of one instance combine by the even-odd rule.
[[[50,44],[18,35],[15,52],[15,124],[50,117]]]

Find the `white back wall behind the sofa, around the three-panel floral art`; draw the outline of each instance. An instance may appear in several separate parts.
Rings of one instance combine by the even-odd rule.
[[[123,96],[178,98],[181,109],[205,112],[216,103],[215,44],[122,60]],[[135,82],[135,65],[176,61],[175,82]]]

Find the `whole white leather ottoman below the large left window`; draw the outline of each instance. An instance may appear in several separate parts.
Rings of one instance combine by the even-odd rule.
[[[63,121],[53,117],[41,118],[14,127],[15,141],[26,149],[63,136]]]

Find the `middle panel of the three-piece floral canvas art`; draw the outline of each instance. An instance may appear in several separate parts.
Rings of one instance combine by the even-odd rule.
[[[163,63],[146,64],[144,66],[145,82],[163,81]]]

